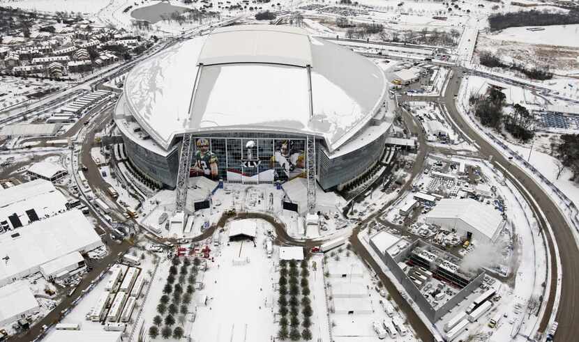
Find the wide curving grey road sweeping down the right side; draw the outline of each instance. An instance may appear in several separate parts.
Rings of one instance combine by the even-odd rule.
[[[497,169],[504,169],[509,171],[505,173],[505,177],[509,178],[518,187],[525,200],[529,205],[539,221],[541,229],[545,229],[547,223],[552,228],[555,235],[555,241],[559,249],[562,267],[562,293],[559,308],[557,310],[556,320],[559,322],[557,329],[557,341],[577,341],[576,336],[579,336],[579,325],[575,322],[579,318],[579,307],[576,300],[576,288],[579,281],[579,249],[576,244],[575,237],[566,219],[559,211],[556,203],[552,201],[550,195],[547,194],[540,185],[537,185],[534,179],[527,175],[525,171],[520,169],[516,164],[513,164],[506,157],[500,153],[495,146],[488,143],[482,136],[482,132],[473,130],[472,127],[465,121],[465,118],[460,115],[456,108],[455,95],[458,94],[460,81],[465,77],[465,72],[462,69],[456,68],[453,72],[453,77],[449,81],[446,92],[440,99],[444,102],[449,115],[454,123],[458,125],[462,132],[465,132],[469,139],[480,146],[479,153],[482,157],[488,158],[492,156],[492,164]],[[414,101],[427,100],[412,97],[409,98]],[[402,98],[405,100],[405,97]],[[438,100],[437,98],[428,98],[428,100]],[[459,130],[459,131],[460,131]],[[512,176],[511,176],[512,175]],[[536,202],[536,203],[535,203]],[[546,220],[541,217],[540,213],[545,215]],[[549,300],[546,303],[546,314],[541,320],[539,331],[543,332],[547,328],[548,318],[553,309],[555,286],[557,281],[557,265],[555,263],[555,247],[550,240],[550,235],[546,234],[550,254],[552,256],[552,263],[550,266],[551,283],[548,284],[550,291]]]

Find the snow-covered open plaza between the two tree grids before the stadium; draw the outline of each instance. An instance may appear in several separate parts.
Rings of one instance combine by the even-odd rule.
[[[253,220],[252,220],[253,221]],[[255,246],[249,239],[211,247],[214,261],[204,272],[206,306],[197,304],[191,337],[197,342],[270,341],[273,324],[274,261],[264,247],[265,231],[257,225]],[[275,280],[277,282],[277,279]]]

